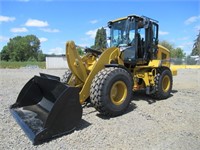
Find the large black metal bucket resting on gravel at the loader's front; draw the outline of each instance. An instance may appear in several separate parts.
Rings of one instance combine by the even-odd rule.
[[[22,88],[10,112],[33,144],[72,132],[82,117],[79,89],[40,74]]]

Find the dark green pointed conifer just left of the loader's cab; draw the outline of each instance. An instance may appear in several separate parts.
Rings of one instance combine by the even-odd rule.
[[[103,27],[97,30],[94,46],[92,46],[92,48],[100,50],[107,48],[106,30]]]

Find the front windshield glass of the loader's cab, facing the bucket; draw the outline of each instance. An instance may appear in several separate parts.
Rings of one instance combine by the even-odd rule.
[[[135,24],[134,21],[120,20],[112,23],[110,31],[110,46],[128,46],[134,43]]]

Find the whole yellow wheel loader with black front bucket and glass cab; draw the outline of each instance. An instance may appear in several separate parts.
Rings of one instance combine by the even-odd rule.
[[[132,92],[145,90],[166,99],[172,90],[170,52],[158,44],[158,22],[130,15],[108,22],[110,48],[85,48],[80,57],[73,41],[66,43],[69,69],[64,78],[40,74],[22,88],[10,111],[33,144],[72,132],[90,100],[101,114],[122,115]]]

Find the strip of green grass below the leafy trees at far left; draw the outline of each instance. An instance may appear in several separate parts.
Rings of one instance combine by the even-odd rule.
[[[11,61],[1,61],[0,68],[21,68],[21,67],[28,67],[28,66],[38,66],[39,68],[45,68],[45,62],[11,62]]]

